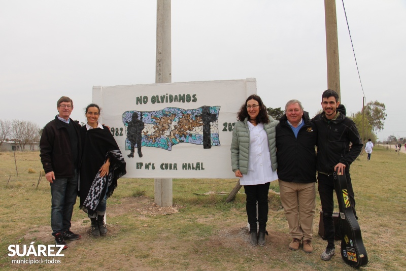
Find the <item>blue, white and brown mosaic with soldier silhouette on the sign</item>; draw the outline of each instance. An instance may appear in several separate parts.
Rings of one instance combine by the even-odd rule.
[[[220,146],[219,106],[196,109],[167,107],[158,111],[126,111],[123,113],[125,149],[156,147],[168,151],[179,143],[203,145],[205,149]],[[140,146],[141,144],[141,146]],[[140,156],[142,157],[142,156]]]

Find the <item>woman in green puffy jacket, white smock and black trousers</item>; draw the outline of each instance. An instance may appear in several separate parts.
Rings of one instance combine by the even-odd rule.
[[[232,130],[232,171],[235,177],[240,178],[240,184],[244,186],[247,195],[249,242],[252,246],[264,246],[265,234],[268,234],[266,222],[269,183],[278,179],[275,142],[278,121],[268,116],[258,95],[251,95],[246,99],[237,119]]]

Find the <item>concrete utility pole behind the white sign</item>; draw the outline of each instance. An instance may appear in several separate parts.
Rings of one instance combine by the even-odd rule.
[[[156,1],[155,83],[172,83],[171,0]],[[172,206],[172,179],[154,179],[155,204]]]

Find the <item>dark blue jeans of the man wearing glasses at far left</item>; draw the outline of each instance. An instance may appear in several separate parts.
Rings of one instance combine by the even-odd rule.
[[[78,196],[78,174],[72,178],[56,178],[51,185],[51,228],[52,235],[71,228],[73,206]]]

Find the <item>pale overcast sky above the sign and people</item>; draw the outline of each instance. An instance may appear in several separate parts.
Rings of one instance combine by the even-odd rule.
[[[344,4],[366,100],[386,105],[379,140],[406,137],[406,1]],[[363,93],[341,0],[336,10],[341,98],[356,113]],[[155,0],[0,0],[0,37],[0,119],[42,127],[66,95],[84,121],[93,86],[155,83]],[[324,1],[172,0],[172,82],[249,77],[267,107],[295,98],[314,116],[327,88]]]

